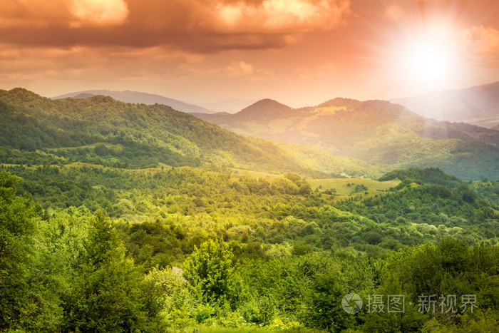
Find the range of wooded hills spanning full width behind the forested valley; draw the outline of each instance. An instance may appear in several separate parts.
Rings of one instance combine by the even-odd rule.
[[[372,176],[393,168],[438,167],[464,180],[499,179],[498,127],[431,120],[388,101],[335,98],[291,108],[264,99],[235,114],[194,113],[197,119],[160,100],[123,103],[103,93],[49,99],[22,88],[0,90],[5,129],[0,148],[39,150],[42,155],[33,157],[38,159],[56,153],[133,168],[215,163],[267,172]],[[92,155],[100,144],[108,153],[101,147],[102,155]],[[0,159],[14,155],[0,149]]]

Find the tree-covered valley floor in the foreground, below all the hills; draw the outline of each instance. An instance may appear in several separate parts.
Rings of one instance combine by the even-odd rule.
[[[406,178],[384,195],[331,203],[296,174],[7,168],[21,178],[0,173],[4,329],[466,332],[498,324],[498,212],[466,185]],[[364,299],[357,314],[342,308],[349,292]],[[370,310],[369,297],[380,294],[383,304],[403,295],[405,311]],[[458,306],[473,295],[473,312],[421,309],[421,295],[433,294],[457,295]]]

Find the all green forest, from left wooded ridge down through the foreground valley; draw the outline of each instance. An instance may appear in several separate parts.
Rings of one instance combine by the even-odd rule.
[[[166,106],[8,93],[2,331],[499,326],[499,181],[314,170]]]

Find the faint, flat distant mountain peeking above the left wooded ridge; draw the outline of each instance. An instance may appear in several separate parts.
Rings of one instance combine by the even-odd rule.
[[[139,91],[108,91],[108,90],[78,91],[76,93],[66,93],[61,96],[56,96],[53,97],[53,99],[88,98],[96,95],[109,96],[117,101],[122,101],[125,103],[142,103],[148,105],[156,103],[164,104],[165,106],[170,106],[175,110],[186,113],[214,113],[214,111],[208,110],[207,108],[202,108],[201,106],[185,103],[173,98],[167,98],[164,96],[155,95],[153,93],[140,93]]]

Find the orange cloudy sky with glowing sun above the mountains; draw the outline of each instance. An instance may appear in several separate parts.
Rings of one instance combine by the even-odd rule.
[[[0,88],[192,103],[499,81],[498,0],[0,0]]]

